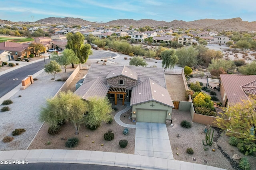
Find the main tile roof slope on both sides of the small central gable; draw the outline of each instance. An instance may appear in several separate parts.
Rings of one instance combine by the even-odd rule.
[[[136,85],[140,84],[144,80],[150,78],[157,82],[160,86],[166,88],[166,82],[164,77],[163,68],[152,68],[152,67],[136,67],[136,66],[126,66],[138,74],[138,80]],[[88,71],[84,83],[90,82],[95,78],[100,78],[104,83],[107,84],[106,77],[108,74],[122,66],[112,66],[112,65],[98,65],[92,64],[90,70]]]

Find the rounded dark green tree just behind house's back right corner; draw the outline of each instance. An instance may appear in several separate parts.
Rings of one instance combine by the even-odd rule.
[[[162,58],[162,67],[173,68],[175,64],[178,62],[178,57],[175,55],[176,51],[174,49],[164,50],[160,53]]]

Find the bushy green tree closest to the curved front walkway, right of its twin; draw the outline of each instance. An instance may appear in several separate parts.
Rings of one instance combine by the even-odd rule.
[[[108,98],[90,97],[87,104],[86,127],[96,129],[101,125],[102,121],[107,123],[113,119],[113,109]]]

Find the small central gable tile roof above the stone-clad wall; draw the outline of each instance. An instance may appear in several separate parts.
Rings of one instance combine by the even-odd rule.
[[[122,66],[108,73],[108,75],[106,76],[106,79],[121,76],[121,75],[131,78],[133,80],[138,80],[138,74],[126,66]]]

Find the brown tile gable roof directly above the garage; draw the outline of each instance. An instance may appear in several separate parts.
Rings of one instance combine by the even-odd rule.
[[[130,106],[144,102],[155,101],[174,108],[172,99],[166,88],[163,88],[150,78],[146,79],[138,86],[132,88]]]

